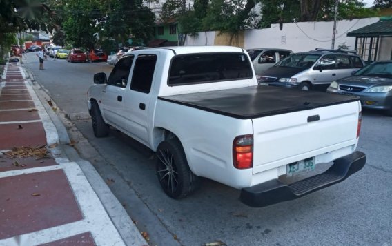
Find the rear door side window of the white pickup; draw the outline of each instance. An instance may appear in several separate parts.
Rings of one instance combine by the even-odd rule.
[[[157,56],[155,54],[141,54],[137,57],[135,68],[133,69],[130,90],[150,93]]]

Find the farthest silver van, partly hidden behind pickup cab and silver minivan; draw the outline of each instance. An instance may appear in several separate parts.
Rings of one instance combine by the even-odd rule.
[[[246,50],[251,57],[256,74],[261,74],[275,63],[293,54],[291,50],[273,48],[255,48]]]

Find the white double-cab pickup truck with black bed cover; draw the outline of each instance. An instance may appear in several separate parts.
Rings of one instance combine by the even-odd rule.
[[[95,136],[110,125],[156,152],[158,181],[172,198],[205,177],[263,207],[339,183],[366,163],[355,151],[357,97],[258,86],[242,48],[136,50],[94,83]]]

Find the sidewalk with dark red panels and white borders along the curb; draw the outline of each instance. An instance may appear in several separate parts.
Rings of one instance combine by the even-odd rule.
[[[92,165],[70,161],[21,65],[2,77],[0,245],[148,245]]]

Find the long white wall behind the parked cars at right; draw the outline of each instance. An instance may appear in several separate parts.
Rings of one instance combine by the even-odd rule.
[[[379,18],[353,19],[337,22],[335,48],[342,43],[355,48],[355,37],[347,37],[347,32],[370,25]],[[244,48],[286,48],[293,52],[331,48],[333,21],[284,23],[282,30],[278,24],[271,28],[246,30]]]

